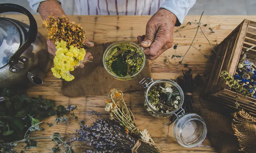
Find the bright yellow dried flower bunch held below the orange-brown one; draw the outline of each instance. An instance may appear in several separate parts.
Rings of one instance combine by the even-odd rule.
[[[55,44],[57,51],[53,60],[53,75],[56,78],[62,78],[66,81],[71,81],[74,79],[74,76],[70,74],[70,71],[73,71],[75,66],[81,64],[86,54],[85,49],[78,49],[73,45],[69,46],[68,49],[67,42],[63,40],[56,42]]]

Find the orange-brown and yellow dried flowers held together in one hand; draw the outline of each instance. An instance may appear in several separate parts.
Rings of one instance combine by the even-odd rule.
[[[71,81],[74,76],[70,71],[84,62],[86,50],[85,31],[80,24],[71,22],[67,17],[49,16],[43,21],[43,27],[48,31],[48,39],[56,44],[56,56],[54,57],[53,75]]]

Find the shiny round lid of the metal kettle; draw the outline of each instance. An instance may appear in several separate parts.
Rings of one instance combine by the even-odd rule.
[[[8,64],[19,46],[20,34],[15,24],[8,19],[0,18],[0,68]]]

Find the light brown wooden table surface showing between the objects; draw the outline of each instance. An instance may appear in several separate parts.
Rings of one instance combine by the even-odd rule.
[[[9,17],[29,23],[29,20],[24,15],[0,15],[0,17]],[[34,15],[38,24],[38,31],[41,32],[45,37],[47,36],[47,31],[42,28],[42,19],[39,15]],[[81,23],[81,26],[86,31],[86,36],[90,41],[95,41],[97,43],[105,43],[108,41],[118,41],[118,40],[137,40],[138,35],[145,34],[145,26],[150,19],[150,16],[69,16],[71,21],[76,23]],[[199,20],[200,16],[186,16],[183,25],[187,22],[194,20]],[[208,37],[210,42],[215,46],[219,44],[228,34],[238,26],[244,19],[249,19],[256,21],[256,16],[203,16],[201,22],[208,24],[215,33],[211,33],[208,28],[203,27],[205,35]],[[196,25],[187,26],[186,28],[194,28]],[[176,27],[177,29],[179,27]],[[190,44],[196,29],[188,31],[180,31],[174,33],[173,39],[174,44],[179,43],[179,45]],[[199,47],[201,45],[201,47]],[[198,33],[194,46],[204,54],[211,55],[211,47],[208,41],[204,38],[201,32]],[[178,47],[177,53],[183,55],[187,50],[187,46]],[[93,54],[93,53],[92,53]],[[151,61],[151,71],[152,78],[157,79],[176,79],[182,74],[182,70],[188,68],[193,69],[193,73],[208,73],[211,70],[212,61],[205,58],[196,49],[191,48],[184,58],[183,64],[178,66],[180,59],[171,59],[171,63],[165,63],[165,56],[171,56],[174,54],[173,48],[167,50],[155,61]],[[89,63],[93,64],[93,63]],[[187,64],[185,67],[184,64]],[[124,82],[125,83],[125,82]],[[104,111],[106,96],[97,97],[81,97],[81,98],[69,98],[63,96],[60,92],[61,80],[55,78],[52,72],[47,73],[47,77],[44,79],[44,84],[41,86],[33,86],[27,90],[29,96],[39,96],[43,95],[43,98],[53,99],[56,101],[56,105],[77,105],[79,119],[85,119],[86,124],[91,124],[96,118],[95,116],[89,115],[88,111],[95,110],[102,113],[103,117],[108,118],[108,114]],[[90,87],[88,87],[90,88]],[[114,87],[113,87],[114,88]],[[194,101],[195,107],[210,105],[207,101],[199,100],[199,92],[196,92]],[[184,148],[175,141],[172,134],[172,125],[170,125],[169,141],[167,138],[168,133],[168,119],[157,119],[150,116],[143,107],[143,91],[125,93],[124,98],[127,105],[132,110],[135,118],[136,124],[139,125],[140,129],[147,129],[149,134],[151,134],[153,140],[158,145],[163,152],[175,152],[175,153],[188,153],[188,152],[215,152],[214,148],[210,146],[208,139],[205,139],[202,145],[196,148]],[[92,120],[90,120],[92,118]],[[40,124],[45,128],[45,131],[38,131],[35,133],[36,136],[51,136],[53,131],[59,132],[62,136],[67,138],[72,137],[75,128],[79,128],[79,125],[70,116],[70,125],[54,125],[49,128],[46,123],[54,123],[55,117],[50,117],[43,120]],[[48,153],[51,152],[51,148],[55,146],[54,142],[50,139],[40,139],[38,141],[39,147],[36,149],[30,149],[26,152],[37,152],[37,153]],[[24,147],[24,146],[23,146]],[[17,148],[22,149],[22,145]],[[76,152],[84,152],[83,147],[79,146],[79,143],[75,143]]]

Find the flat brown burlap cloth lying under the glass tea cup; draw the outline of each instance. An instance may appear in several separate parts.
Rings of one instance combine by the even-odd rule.
[[[103,52],[113,42],[96,44],[88,52],[94,56],[92,63],[85,64],[84,68],[77,68],[71,72],[75,79],[62,81],[61,93],[68,97],[97,96],[108,94],[111,88],[122,91],[133,91],[143,89],[139,82],[144,77],[151,78],[150,66],[146,60],[145,67],[136,78],[129,81],[114,79],[104,68],[102,63]]]

